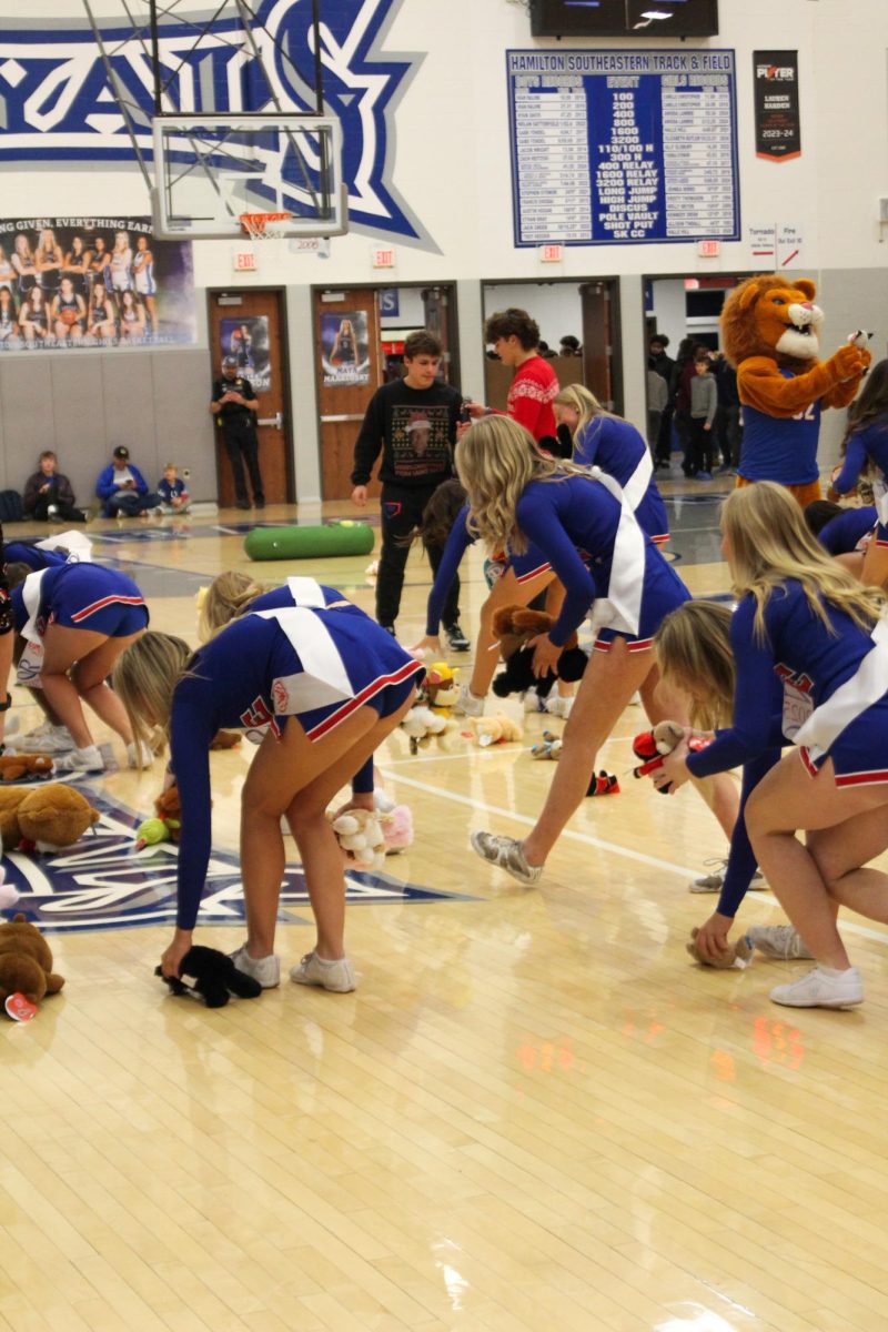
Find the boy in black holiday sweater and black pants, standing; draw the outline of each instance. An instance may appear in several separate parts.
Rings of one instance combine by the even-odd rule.
[[[403,345],[403,362],[406,376],[383,384],[370,400],[351,472],[351,501],[363,507],[373,465],[382,450],[377,621],[391,634],[401,607],[407,538],[419,526],[435,489],[454,474],[453,450],[462,406],[458,389],[435,382],[441,344],[431,333],[422,329],[410,334]],[[441,551],[429,547],[429,559],[434,570]],[[466,651],[469,639],[459,629],[458,598],[459,585],[454,582],[445,607],[445,633],[451,649]]]

